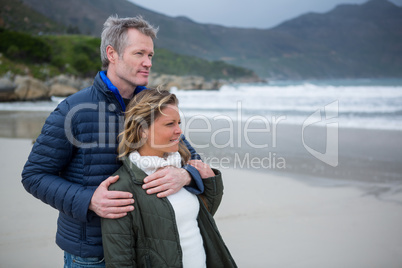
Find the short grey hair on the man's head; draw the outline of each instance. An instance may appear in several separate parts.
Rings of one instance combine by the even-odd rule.
[[[121,56],[127,46],[127,30],[131,28],[137,29],[152,39],[155,39],[158,33],[158,28],[149,24],[141,16],[132,18],[110,16],[103,24],[101,36],[100,52],[103,70],[106,70],[109,66],[109,60],[106,55],[107,46],[112,46],[119,56]]]

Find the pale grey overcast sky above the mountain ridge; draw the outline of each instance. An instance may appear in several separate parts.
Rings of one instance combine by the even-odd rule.
[[[307,12],[325,13],[338,4],[367,0],[129,0],[168,16],[186,16],[199,23],[271,28]],[[390,0],[402,6],[402,0]]]

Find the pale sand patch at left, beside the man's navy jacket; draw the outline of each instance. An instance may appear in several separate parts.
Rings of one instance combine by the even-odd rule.
[[[30,139],[0,138],[2,267],[62,267],[63,252],[55,244],[58,212],[28,194],[21,171],[32,148]]]

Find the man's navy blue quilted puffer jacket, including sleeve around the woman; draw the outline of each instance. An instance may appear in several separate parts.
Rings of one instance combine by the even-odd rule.
[[[71,254],[103,256],[100,218],[88,207],[99,184],[121,166],[117,135],[123,120],[120,103],[98,73],[91,87],[66,98],[50,114],[25,164],[25,189],[60,211],[56,243]],[[192,158],[199,158],[189,149]],[[202,192],[199,173],[185,168],[199,188],[190,191]]]

